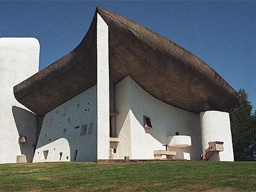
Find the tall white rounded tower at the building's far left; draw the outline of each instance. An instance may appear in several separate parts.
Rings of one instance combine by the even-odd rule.
[[[36,116],[14,98],[13,87],[38,72],[39,52],[36,38],[0,38],[0,163],[16,162],[20,154],[33,159]],[[27,143],[19,144],[19,135]]]

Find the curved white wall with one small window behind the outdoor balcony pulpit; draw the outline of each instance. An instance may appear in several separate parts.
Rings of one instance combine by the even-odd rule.
[[[191,136],[189,148],[171,148],[176,159],[200,159],[202,143],[198,114],[170,106],[143,90],[130,76],[115,85],[115,107],[117,116],[117,148],[119,159],[129,155],[130,159],[153,159],[153,151],[165,150],[168,136]],[[153,128],[143,127],[143,116],[151,120]],[[125,139],[126,138],[126,139]],[[126,150],[124,152],[124,150]],[[123,152],[121,152],[123,151]]]

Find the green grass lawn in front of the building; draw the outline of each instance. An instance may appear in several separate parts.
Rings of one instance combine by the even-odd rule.
[[[2,164],[0,191],[256,191],[256,162]]]

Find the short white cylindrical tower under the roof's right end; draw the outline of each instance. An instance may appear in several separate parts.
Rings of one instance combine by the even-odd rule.
[[[200,113],[202,148],[208,148],[208,142],[221,141],[220,161],[234,161],[231,127],[228,112],[206,111]],[[216,159],[216,158],[215,158]]]

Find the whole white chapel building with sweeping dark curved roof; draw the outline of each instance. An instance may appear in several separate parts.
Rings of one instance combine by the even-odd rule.
[[[35,38],[1,38],[0,50],[0,163],[234,161],[225,111],[236,91],[186,49],[121,15],[97,7],[77,48],[40,72]],[[17,76],[7,83],[2,74]]]

